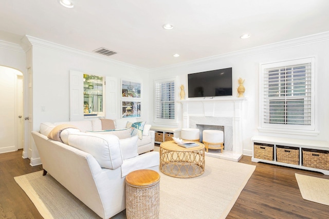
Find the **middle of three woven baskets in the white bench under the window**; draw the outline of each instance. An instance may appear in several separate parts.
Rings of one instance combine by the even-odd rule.
[[[299,148],[277,146],[277,161],[299,165]]]

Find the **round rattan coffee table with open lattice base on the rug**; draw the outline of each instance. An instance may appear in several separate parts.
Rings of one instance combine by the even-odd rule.
[[[184,148],[174,141],[160,144],[160,171],[166,175],[190,178],[205,172],[205,146]]]

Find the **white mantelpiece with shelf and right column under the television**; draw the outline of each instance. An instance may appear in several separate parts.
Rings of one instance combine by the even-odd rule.
[[[182,104],[182,128],[190,127],[190,117],[198,116],[199,120],[204,118],[205,125],[209,121],[216,121],[221,117],[232,118],[232,151],[225,151],[220,158],[239,161],[243,154],[243,131],[242,116],[243,102],[245,97],[214,97],[214,98],[192,98],[177,101]],[[202,103],[202,105],[200,104]],[[214,117],[213,120],[209,118]],[[209,124],[214,125],[214,124]],[[221,124],[218,124],[221,125]],[[225,143],[224,143],[225,144]],[[226,155],[225,155],[226,154]],[[227,154],[229,154],[227,156]]]

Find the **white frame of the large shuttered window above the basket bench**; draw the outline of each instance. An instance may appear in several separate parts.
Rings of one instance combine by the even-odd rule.
[[[265,91],[264,91],[264,73],[266,69],[272,68],[285,68],[288,66],[302,65],[310,63],[311,69],[311,82],[310,82],[310,125],[291,125],[291,124],[270,124],[265,123],[264,119],[264,107],[265,107]],[[289,61],[280,61],[280,62],[272,62],[272,63],[262,63],[260,64],[260,79],[259,79],[259,130],[264,132],[276,132],[276,133],[286,133],[286,134],[316,134],[316,68],[315,68],[315,57],[306,57],[306,58],[298,58]],[[293,99],[293,97],[289,97]],[[283,97],[282,99],[289,99],[287,97]],[[298,98],[298,96],[296,97]],[[295,99],[296,99],[295,98]],[[278,100],[280,98],[278,97]],[[300,99],[300,98],[298,98]]]

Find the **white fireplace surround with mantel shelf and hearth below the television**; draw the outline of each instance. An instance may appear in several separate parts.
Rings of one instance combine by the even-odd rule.
[[[196,125],[224,126],[223,153],[209,150],[208,156],[238,162],[243,155],[243,102],[246,98],[217,97],[186,99],[182,104],[182,128],[197,128]]]

